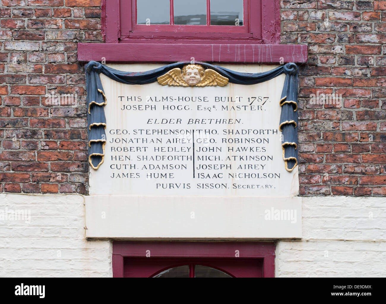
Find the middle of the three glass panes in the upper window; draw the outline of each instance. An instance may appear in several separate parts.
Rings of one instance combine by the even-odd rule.
[[[174,24],[206,25],[207,0],[174,0]]]

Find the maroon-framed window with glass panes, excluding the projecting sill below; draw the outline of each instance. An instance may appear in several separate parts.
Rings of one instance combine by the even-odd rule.
[[[118,1],[118,3],[115,3]],[[278,0],[115,0],[102,6],[106,41],[119,27],[120,42],[135,39],[249,39],[264,43],[262,25],[277,32],[269,43],[279,43]],[[113,6],[115,5],[115,8]],[[111,14],[109,13],[111,10]],[[114,14],[119,12],[119,20]],[[268,29],[269,27],[269,29]],[[274,40],[273,40],[274,39]]]

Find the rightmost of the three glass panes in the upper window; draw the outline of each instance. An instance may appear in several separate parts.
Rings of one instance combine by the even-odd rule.
[[[243,0],[210,0],[210,25],[243,25]]]

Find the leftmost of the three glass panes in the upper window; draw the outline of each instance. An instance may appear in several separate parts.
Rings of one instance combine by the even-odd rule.
[[[137,24],[170,24],[170,1],[137,0]]]

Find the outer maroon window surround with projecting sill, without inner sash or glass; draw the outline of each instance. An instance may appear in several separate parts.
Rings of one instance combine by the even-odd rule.
[[[306,44],[280,43],[279,0],[249,0],[249,33],[186,32],[125,36],[132,30],[132,0],[102,0],[104,43],[78,43],[78,61],[170,63],[206,61],[230,64],[283,64],[307,61]],[[133,0],[134,1],[134,0]],[[127,11],[121,17],[122,3]],[[259,12],[253,17],[251,12]],[[195,25],[192,25],[195,26]],[[125,29],[125,30],[123,30]],[[143,33],[142,33],[143,34]],[[228,37],[223,37],[223,36]],[[217,36],[217,37],[216,37]]]

